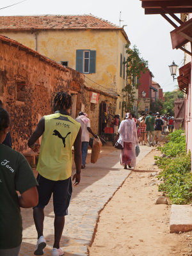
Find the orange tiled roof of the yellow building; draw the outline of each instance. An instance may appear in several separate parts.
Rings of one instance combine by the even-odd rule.
[[[124,28],[108,20],[93,15],[34,15],[34,16],[0,16],[0,31],[27,31],[47,29],[99,29],[120,30],[127,42],[129,39]]]

